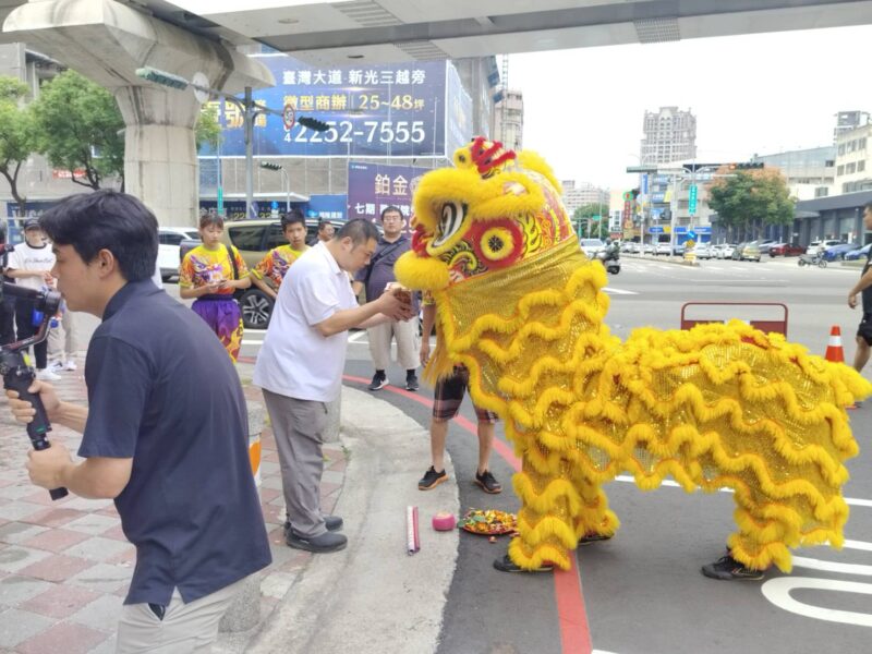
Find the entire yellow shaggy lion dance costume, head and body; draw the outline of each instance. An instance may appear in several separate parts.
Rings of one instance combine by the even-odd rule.
[[[738,320],[621,343],[603,324],[605,270],[580,251],[547,164],[481,137],[453,162],[415,190],[396,272],[436,301],[428,376],[464,364],[522,459],[517,566],[568,569],[579,538],[614,534],[602,485],[625,471],[642,489],[667,475],[732,488],[728,547],[749,568],[788,572],[790,547],[841,546],[843,462],[858,452],[845,407],[869,383]]]

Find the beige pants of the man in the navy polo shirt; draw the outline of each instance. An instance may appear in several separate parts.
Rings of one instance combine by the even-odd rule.
[[[218,622],[243,581],[190,604],[182,602],[175,589],[162,620],[148,604],[126,604],[118,623],[116,654],[208,654],[218,637]]]

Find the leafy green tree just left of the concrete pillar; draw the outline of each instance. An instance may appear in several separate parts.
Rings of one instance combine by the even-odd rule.
[[[104,179],[124,178],[124,120],[108,90],[75,71],[43,86],[33,104],[37,149],[72,181],[95,191]]]

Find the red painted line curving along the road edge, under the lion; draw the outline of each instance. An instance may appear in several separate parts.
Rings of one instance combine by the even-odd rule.
[[[370,379],[352,375],[343,375],[342,379],[354,382],[355,384],[370,383]],[[432,400],[427,400],[416,392],[410,392],[396,386],[386,386],[383,390],[389,390],[420,404],[433,408]],[[453,422],[471,434],[476,433],[475,424],[462,415],[455,417]],[[521,470],[521,461],[506,443],[499,438],[494,439],[494,449],[516,472]],[[591,643],[591,630],[588,626],[588,610],[584,607],[581,577],[576,557],[572,556],[569,560],[572,564],[569,570],[554,571],[554,594],[557,600],[557,619],[560,625],[560,641],[562,643],[561,651],[564,654],[591,654],[593,644]]]

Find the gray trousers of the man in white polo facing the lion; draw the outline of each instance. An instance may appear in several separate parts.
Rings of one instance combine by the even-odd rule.
[[[320,510],[327,404],[266,389],[264,402],[279,452],[288,520],[296,534],[310,538],[319,536],[327,531]]]

